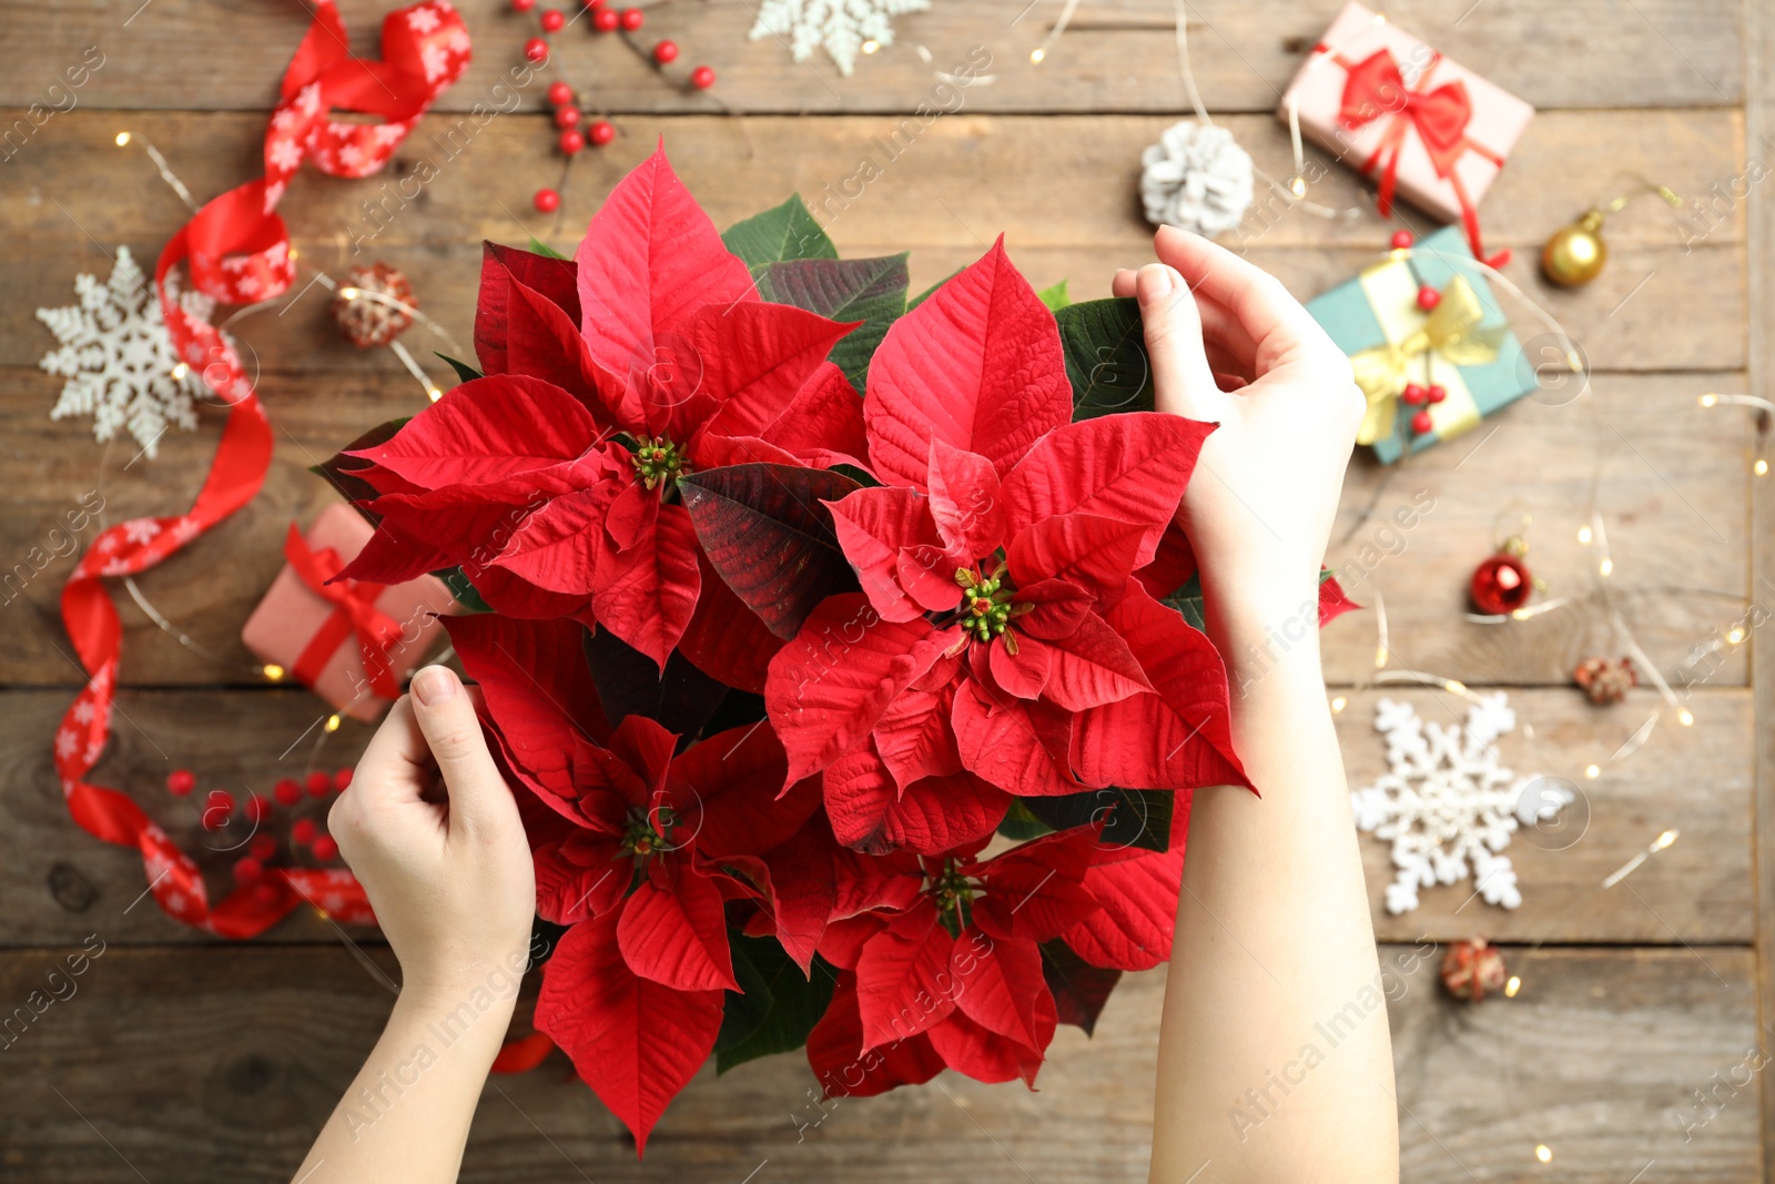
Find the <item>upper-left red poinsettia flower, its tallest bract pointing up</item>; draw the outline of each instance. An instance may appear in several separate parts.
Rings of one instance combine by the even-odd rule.
[[[859,435],[845,424],[861,401],[825,360],[850,328],[761,300],[662,147],[611,192],[573,261],[486,247],[486,376],[351,453],[382,525],[348,575],[462,566],[499,612],[596,620],[664,666],[703,582],[678,478],[737,460],[859,463],[832,451]]]

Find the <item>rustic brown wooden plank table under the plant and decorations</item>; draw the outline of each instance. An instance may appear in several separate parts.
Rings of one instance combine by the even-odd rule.
[[[296,4],[151,0],[131,16],[135,4],[0,4],[5,126],[32,103],[55,101],[46,89],[87,46],[103,53],[76,107],[37,128],[0,170],[5,564],[25,561],[94,488],[112,520],[183,509],[215,447],[218,421],[206,415],[201,431],[169,435],[158,460],[124,469],[133,447],[114,447],[101,478],[85,422],[46,417],[57,380],[36,367],[50,335],[32,311],[67,304],[76,270],[103,277],[117,245],[151,261],[186,217],[138,151],[114,147],[117,131],[156,144],[199,197],[257,176],[266,112],[307,14]],[[341,7],[353,48],[373,53],[385,5]],[[477,101],[497,105],[493,87],[520,60],[532,18],[495,0],[463,7],[476,62],[390,172],[346,183],[304,170],[282,204],[304,264],[343,275],[353,261],[385,259],[462,341],[479,240],[536,234],[572,249],[655,137],[666,137],[689,186],[726,225],[792,190],[818,204],[857,172],[863,153],[882,156],[872,137],[891,138],[925,99],[958,108],[902,135],[861,197],[829,206],[841,250],[911,249],[921,289],[1005,231],[1037,286],[1067,279],[1076,298],[1099,296],[1111,268],[1145,257],[1140,149],[1186,110],[1173,9],[1163,0],[1088,0],[1040,67],[1030,50],[1058,4],[1019,18],[1021,0],[935,0],[932,12],[903,18],[900,44],[863,59],[850,80],[824,59],[804,67],[781,44],[749,44],[746,0],[678,0],[651,9],[646,32],[680,41],[685,64],[712,64],[721,83],[710,96],[660,85],[632,55],[577,27],[559,39],[586,105],[609,108],[621,135],[580,158],[559,217],[545,218],[529,206],[559,172],[543,85],[524,94],[520,114],[470,122],[470,135],[458,130]],[[1290,169],[1269,110],[1333,9],[1329,0],[1189,7],[1203,94],[1273,176]],[[1763,582],[1775,575],[1775,497],[1750,476],[1759,424],[1736,408],[1697,408],[1706,391],[1771,394],[1775,348],[1764,325],[1775,316],[1775,206],[1745,178],[1768,172],[1775,99],[1757,66],[1775,57],[1775,12],[1754,0],[1415,0],[1390,16],[1541,110],[1486,201],[1487,243],[1516,250],[1509,275],[1564,320],[1598,371],[1590,401],[1525,399],[1397,469],[1360,460],[1335,534],[1337,564],[1363,547],[1392,552],[1363,559],[1370,570],[1351,588],[1367,604],[1384,598],[1392,667],[1509,689],[1534,740],[1519,730],[1505,758],[1573,777],[1587,799],[1587,829],[1569,847],[1569,836],[1512,847],[1526,896],[1514,912],[1463,904],[1468,888],[1456,886],[1388,916],[1379,904],[1386,850],[1363,840],[1383,959],[1409,983],[1392,1008],[1406,1179],[1761,1179],[1775,1145],[1775,1090],[1761,1090],[1745,1065],[1766,1060],[1755,1049],[1768,1047],[1775,955],[1775,895],[1768,877],[1754,877],[1759,857],[1775,852],[1775,646],[1764,630],[1727,644],[1684,691],[1693,726],[1667,712],[1645,747],[1615,763],[1608,754],[1656,698],[1638,691],[1626,705],[1592,708],[1567,678],[1580,657],[1619,651],[1598,598],[1598,552],[1576,540],[1592,481],[1615,563],[1613,604],[1668,676],[1692,669],[1697,648],[1741,621],[1747,598],[1775,604],[1775,584]],[[973,46],[990,51],[992,82],[941,91],[934,69],[960,64]],[[389,204],[396,190],[383,185],[424,163],[435,176]],[[1640,202],[1608,222],[1613,257],[1596,284],[1576,293],[1541,286],[1532,273],[1539,243],[1612,197],[1624,170],[1667,181],[1709,213],[1684,213],[1684,233],[1670,209]],[[1342,170],[1315,197],[1363,201]],[[371,225],[366,202],[382,206],[383,225],[353,257],[353,231]],[[1308,296],[1351,275],[1388,229],[1372,215],[1331,224],[1271,206],[1227,241]],[[1525,320],[1519,328],[1537,332]],[[263,786],[307,751],[279,763],[318,703],[248,685],[238,643],[280,564],[284,529],[332,501],[305,467],[421,399],[387,351],[334,335],[320,293],[284,316],[245,321],[240,337],[277,428],[270,479],[243,513],[142,580],[224,662],[181,648],[119,591],[124,689],[98,770],[133,786],[188,845],[201,836],[197,808],[158,788],[170,769]],[[1434,509],[1411,531],[1384,534],[1393,508],[1420,492]],[[1512,627],[1466,623],[1468,572],[1491,550],[1500,517],[1519,508],[1534,513],[1535,572],[1578,604]],[[67,820],[50,737],[80,682],[57,616],[71,563],[55,559],[21,593],[9,588],[0,616],[0,735],[11,754],[0,770],[0,1006],[23,1005],[89,935],[105,953],[78,994],[36,1019],[0,1060],[0,1179],[288,1179],[389,998],[312,914],[252,944],[201,941],[140,902],[133,854],[98,845]],[[1379,692],[1361,685],[1374,675],[1374,648],[1372,612],[1326,634],[1358,783],[1381,767]],[[1461,715],[1459,699],[1440,691],[1388,692],[1431,719]],[[346,724],[325,763],[348,763],[366,738],[366,728]],[[1580,772],[1590,763],[1605,767],[1596,781]],[[1676,845],[1601,888],[1665,829],[1681,831]],[[1477,1008],[1441,998],[1436,959],[1418,955],[1475,932],[1507,943],[1519,998]],[[390,966],[387,950],[369,950]],[[822,1111],[813,1076],[793,1056],[721,1083],[708,1070],[673,1106],[644,1166],[556,1058],[488,1088],[463,1179],[1138,1180],[1161,992],[1163,973],[1132,976],[1095,1040],[1063,1030],[1037,1093],[946,1074]],[[1550,1164],[1537,1163],[1537,1145],[1551,1150]]]

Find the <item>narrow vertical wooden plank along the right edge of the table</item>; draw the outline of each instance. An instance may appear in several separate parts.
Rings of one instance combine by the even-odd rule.
[[[1775,135],[1775,80],[1770,62],[1775,62],[1775,12],[1766,4],[1745,5],[1745,60],[1755,69],[1745,96],[1745,128],[1761,144]],[[1761,190],[1761,186],[1759,186]],[[1766,190],[1750,192],[1747,217],[1748,254],[1748,311],[1750,311],[1750,383],[1748,391],[1775,398],[1775,334],[1770,316],[1775,316],[1775,202]],[[1770,417],[1766,414],[1729,412],[1757,456],[1768,456]],[[1775,579],[1775,488],[1768,479],[1752,483],[1750,501],[1750,572],[1757,580]],[[1754,849],[1755,849],[1755,904],[1757,904],[1757,1015],[1763,1031],[1775,1024],[1775,641],[1766,628],[1768,616],[1755,620],[1750,635],[1750,680],[1755,689],[1757,774],[1754,792]],[[1763,1157],[1775,1163],[1775,1090],[1763,1088]]]

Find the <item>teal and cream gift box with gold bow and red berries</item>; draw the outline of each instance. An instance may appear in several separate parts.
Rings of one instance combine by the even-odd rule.
[[[1422,298],[1425,288],[1436,296]],[[1461,435],[1537,387],[1484,270],[1452,225],[1388,252],[1308,300],[1306,311],[1351,357],[1369,399],[1356,440],[1388,465]],[[1440,398],[1431,401],[1432,394]],[[1420,414],[1427,431],[1418,430]]]

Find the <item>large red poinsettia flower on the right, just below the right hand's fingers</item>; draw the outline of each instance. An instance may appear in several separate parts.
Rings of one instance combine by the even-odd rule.
[[[863,593],[822,602],[765,689],[786,781],[824,772],[841,841],[930,854],[1006,795],[1244,783],[1219,655],[1131,579],[1214,426],[1070,414],[1054,318],[1003,243],[877,350],[888,485],[831,504]]]

